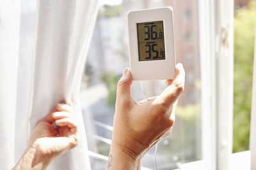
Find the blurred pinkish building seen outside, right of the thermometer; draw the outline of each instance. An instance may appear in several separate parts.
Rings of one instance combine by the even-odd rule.
[[[198,0],[164,0],[163,3],[173,8],[176,59],[186,71],[185,90],[179,104],[195,104],[200,102]]]

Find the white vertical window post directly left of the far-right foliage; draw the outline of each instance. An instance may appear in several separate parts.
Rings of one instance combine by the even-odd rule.
[[[216,169],[230,168],[233,141],[234,0],[216,1]]]

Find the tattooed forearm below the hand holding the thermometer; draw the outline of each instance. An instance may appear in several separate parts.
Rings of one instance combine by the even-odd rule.
[[[141,158],[129,155],[122,148],[111,145],[106,170],[140,169],[140,160]]]

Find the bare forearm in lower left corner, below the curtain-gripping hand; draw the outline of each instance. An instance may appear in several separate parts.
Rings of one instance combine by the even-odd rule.
[[[46,169],[50,162],[51,162],[50,159],[44,159],[44,157],[42,157],[40,151],[38,151],[38,148],[36,148],[36,145],[31,145],[23,153],[19,162],[16,164],[15,167],[13,167],[13,170],[21,170],[21,169],[42,170],[42,169]]]

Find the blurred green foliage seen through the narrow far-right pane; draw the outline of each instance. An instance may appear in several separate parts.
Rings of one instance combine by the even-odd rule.
[[[233,152],[248,150],[252,102],[256,1],[236,10],[234,19],[234,138]]]

